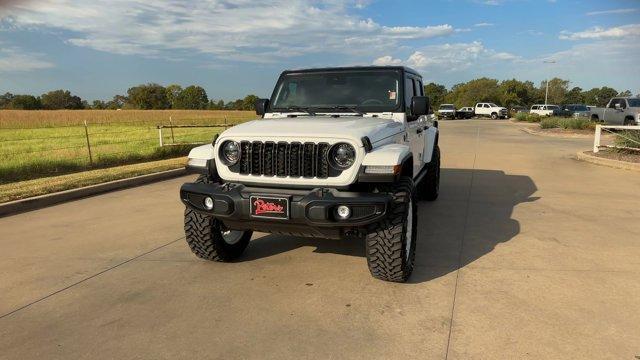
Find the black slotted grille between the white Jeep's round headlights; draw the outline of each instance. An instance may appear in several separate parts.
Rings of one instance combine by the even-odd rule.
[[[244,175],[328,178],[339,175],[329,167],[327,143],[240,142],[236,169]]]

